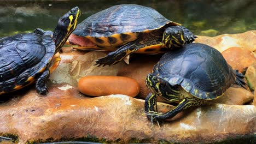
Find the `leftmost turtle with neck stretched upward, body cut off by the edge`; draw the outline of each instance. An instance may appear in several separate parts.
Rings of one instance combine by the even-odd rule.
[[[0,95],[17,91],[33,82],[39,94],[48,93],[46,81],[57,67],[60,50],[77,26],[78,7],[63,15],[54,30],[37,28],[0,39]]]

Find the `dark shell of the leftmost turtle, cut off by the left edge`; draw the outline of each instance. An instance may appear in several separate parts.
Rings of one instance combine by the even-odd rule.
[[[55,53],[53,32],[22,33],[0,39],[0,94],[30,85]]]

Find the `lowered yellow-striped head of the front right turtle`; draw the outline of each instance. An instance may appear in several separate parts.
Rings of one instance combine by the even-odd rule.
[[[160,77],[148,74],[146,78],[146,85],[152,93],[162,95],[162,90],[164,90],[166,86],[166,81]]]

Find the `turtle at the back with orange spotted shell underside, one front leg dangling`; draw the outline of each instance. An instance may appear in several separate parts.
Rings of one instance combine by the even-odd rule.
[[[178,32],[178,33],[174,33]],[[179,37],[183,36],[181,41]],[[133,52],[164,53],[197,38],[180,23],[153,8],[136,4],[114,5],[78,24],[67,43],[76,49],[113,51],[95,65],[113,65]]]

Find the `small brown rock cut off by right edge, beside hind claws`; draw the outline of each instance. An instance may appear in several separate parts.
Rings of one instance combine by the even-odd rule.
[[[246,80],[247,85],[251,89],[251,91],[254,91],[256,87],[256,62],[253,63],[248,69],[246,70]]]

